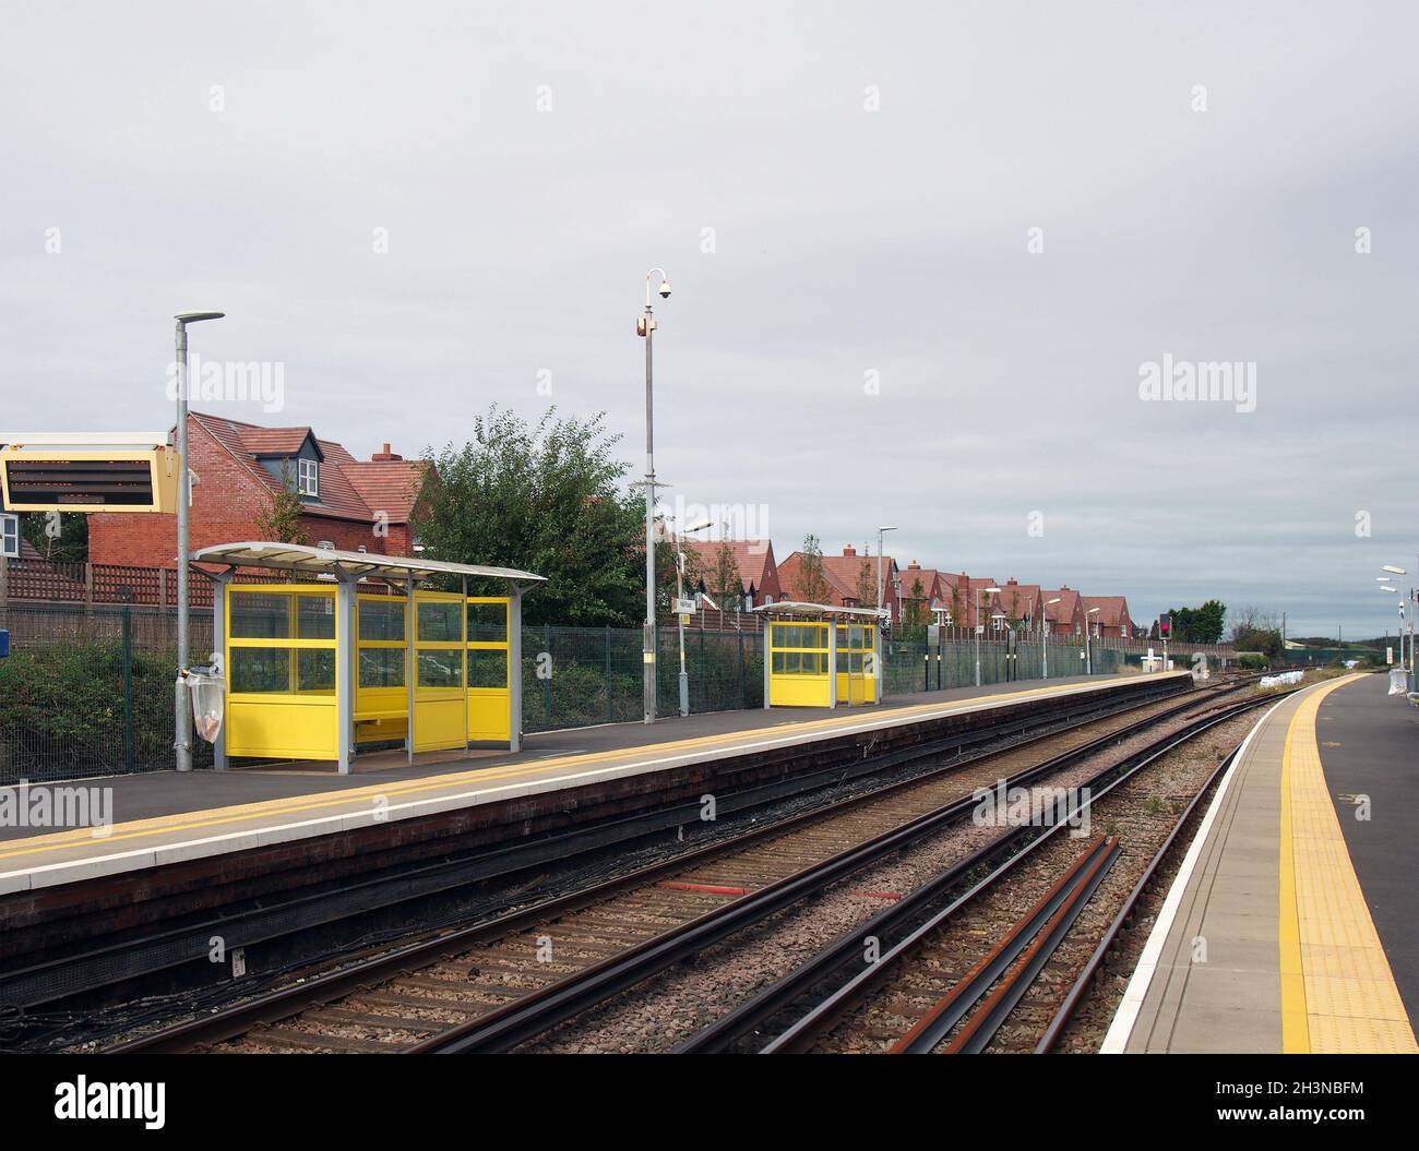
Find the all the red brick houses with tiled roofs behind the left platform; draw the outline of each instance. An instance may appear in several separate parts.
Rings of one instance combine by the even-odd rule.
[[[263,517],[270,515],[272,496],[288,490],[298,499],[297,527],[312,543],[392,556],[417,550],[413,517],[429,465],[406,461],[389,444],[369,459],[358,459],[343,445],[316,437],[309,427],[267,428],[206,412],[189,415],[187,434],[194,481],[193,549],[263,537]],[[18,546],[9,554],[37,556],[18,540],[14,517],[6,517],[0,527]],[[695,554],[701,600],[711,591],[708,584],[714,580],[708,573],[718,570],[724,546],[739,577],[738,594],[728,598],[738,602],[717,607],[751,608],[806,598],[803,588],[817,583],[816,577],[809,578],[813,570],[822,573],[820,598],[841,607],[871,607],[877,602],[880,573],[883,601],[897,624],[972,628],[979,622],[996,631],[1039,631],[1042,621],[1047,621],[1050,631],[1064,634],[1081,635],[1086,624],[1098,636],[1127,639],[1135,632],[1122,595],[1081,595],[1067,585],[1050,590],[1013,577],[998,583],[922,567],[917,560],[902,567],[891,556],[878,563],[877,556],[858,554],[851,544],[841,554],[815,558],[793,551],[779,564],[768,540],[684,540],[683,549]],[[99,566],[172,566],[175,517],[92,515],[88,551],[89,563]]]

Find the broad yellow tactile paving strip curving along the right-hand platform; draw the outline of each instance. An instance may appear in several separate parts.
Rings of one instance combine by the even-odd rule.
[[[1330,797],[1315,730],[1325,696],[1359,678],[1342,676],[1311,693],[1286,730],[1277,938],[1288,1055],[1419,1052]]]

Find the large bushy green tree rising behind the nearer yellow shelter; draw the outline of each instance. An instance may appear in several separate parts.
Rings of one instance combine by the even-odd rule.
[[[529,424],[494,404],[474,420],[467,444],[426,452],[433,466],[414,520],[424,554],[545,576],[522,604],[529,624],[640,622],[646,503],[622,486],[630,465],[616,458],[617,439],[602,412],[562,420],[548,408]],[[658,539],[656,571],[666,605],[675,568]]]

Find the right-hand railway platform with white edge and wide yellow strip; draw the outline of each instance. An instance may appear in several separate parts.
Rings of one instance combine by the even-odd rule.
[[[1413,1053],[1419,712],[1351,675],[1249,734],[1104,1052]]]

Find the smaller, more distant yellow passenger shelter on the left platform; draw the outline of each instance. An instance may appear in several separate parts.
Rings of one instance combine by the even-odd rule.
[[[763,706],[837,707],[883,702],[885,608],[783,601],[762,612]]]

